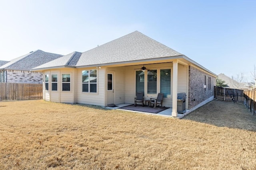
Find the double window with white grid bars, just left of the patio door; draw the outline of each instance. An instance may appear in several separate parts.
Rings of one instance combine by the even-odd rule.
[[[82,92],[97,92],[97,70],[82,71]]]

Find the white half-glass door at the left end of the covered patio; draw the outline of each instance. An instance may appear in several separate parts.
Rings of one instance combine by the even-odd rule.
[[[107,105],[114,104],[114,72],[107,72]]]

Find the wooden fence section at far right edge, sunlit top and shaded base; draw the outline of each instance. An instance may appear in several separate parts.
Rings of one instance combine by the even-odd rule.
[[[256,115],[256,88],[244,90],[244,105]]]

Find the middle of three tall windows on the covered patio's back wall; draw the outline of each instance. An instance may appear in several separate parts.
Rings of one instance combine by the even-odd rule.
[[[148,71],[148,97],[157,96],[157,70]]]

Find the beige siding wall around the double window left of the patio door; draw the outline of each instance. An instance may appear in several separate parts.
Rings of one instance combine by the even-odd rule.
[[[97,93],[82,92],[82,70],[94,70],[93,68],[81,68],[77,70],[77,103],[105,106],[105,84],[106,84],[106,68],[97,69]]]

